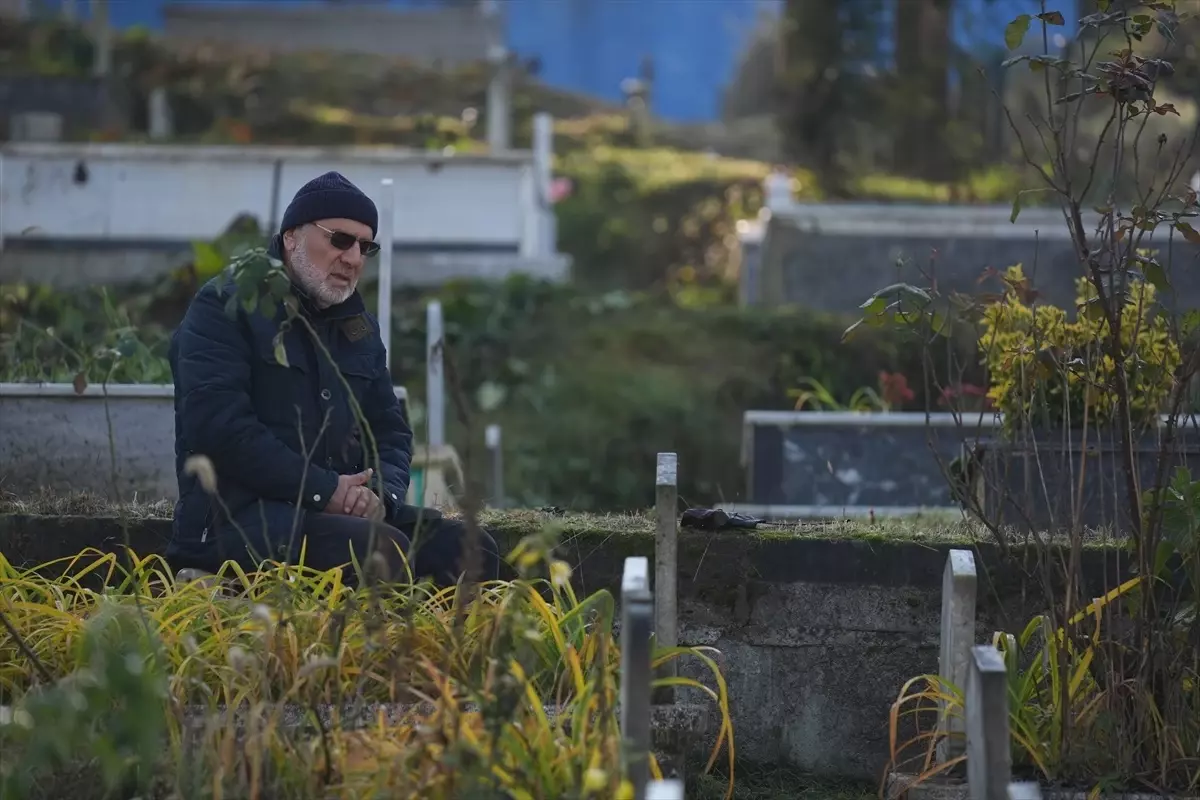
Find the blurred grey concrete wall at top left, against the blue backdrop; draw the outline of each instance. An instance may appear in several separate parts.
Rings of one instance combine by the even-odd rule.
[[[503,42],[499,18],[475,4],[404,10],[367,4],[168,2],[163,30],[182,47],[222,50],[348,52],[457,66],[482,61]]]

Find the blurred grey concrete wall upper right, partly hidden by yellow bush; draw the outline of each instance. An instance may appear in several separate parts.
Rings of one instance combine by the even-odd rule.
[[[757,285],[743,294],[756,305],[857,313],[872,291],[896,282],[929,285],[930,275],[942,294],[997,291],[996,281],[980,285],[984,270],[1020,263],[1043,301],[1074,307],[1074,279],[1084,272],[1062,215],[1026,209],[1014,224],[1010,212],[1009,206],[779,203],[760,269],[743,275]],[[1159,249],[1164,265],[1174,264],[1177,307],[1195,307],[1200,273],[1192,261],[1200,248],[1177,235],[1169,246],[1166,233],[1164,227],[1147,246]]]

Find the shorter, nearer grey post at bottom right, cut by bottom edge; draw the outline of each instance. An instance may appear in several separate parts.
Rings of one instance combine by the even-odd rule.
[[[971,800],[1008,800],[1013,778],[1004,657],[990,644],[971,648],[967,679],[967,787]]]

